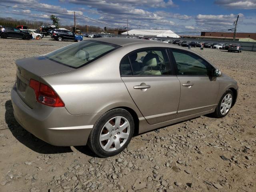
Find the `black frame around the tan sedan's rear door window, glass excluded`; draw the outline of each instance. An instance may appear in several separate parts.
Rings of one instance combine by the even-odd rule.
[[[144,50],[164,50],[165,53],[166,53],[166,56],[167,56],[167,60],[169,61],[169,69],[170,69],[170,74],[169,75],[134,75],[133,74],[133,69],[132,69],[132,65],[131,65],[131,61],[130,61],[130,55],[135,53],[135,52],[140,52],[140,51],[144,51]],[[129,60],[129,64],[130,64],[130,68],[132,69],[132,75],[122,75],[121,73],[121,63],[122,61],[128,57],[128,60]],[[172,64],[171,64],[171,61],[170,60],[170,56],[169,56],[169,52],[168,52],[168,47],[144,47],[144,48],[140,48],[140,49],[136,49],[136,50],[133,50],[131,52],[129,52],[128,54],[126,54],[125,56],[123,56],[123,58],[120,60],[120,63],[119,63],[119,72],[120,72],[120,76],[121,77],[166,77],[166,76],[176,76],[176,74],[174,73],[173,71],[173,68],[171,67]]]

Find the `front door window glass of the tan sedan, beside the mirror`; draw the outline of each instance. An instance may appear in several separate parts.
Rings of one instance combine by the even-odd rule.
[[[172,50],[178,69],[177,75],[208,76],[210,66],[193,53]]]

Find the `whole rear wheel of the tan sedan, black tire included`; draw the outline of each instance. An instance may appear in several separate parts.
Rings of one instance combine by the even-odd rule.
[[[118,120],[120,120],[121,126],[126,125],[124,130],[121,130],[120,124],[117,128],[115,127],[115,122]],[[134,120],[132,115],[124,109],[112,109],[96,121],[87,144],[96,155],[106,158],[122,152],[132,139],[133,133]],[[103,137],[104,134],[106,136]],[[106,139],[100,141],[100,137]],[[116,145],[115,141],[118,141],[117,144],[119,145]]]

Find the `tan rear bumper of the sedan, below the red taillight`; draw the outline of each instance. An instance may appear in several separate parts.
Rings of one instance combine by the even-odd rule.
[[[55,146],[86,145],[94,123],[102,115],[71,115],[66,108],[53,108],[40,103],[35,108],[26,105],[16,92],[11,91],[14,117],[34,136]]]

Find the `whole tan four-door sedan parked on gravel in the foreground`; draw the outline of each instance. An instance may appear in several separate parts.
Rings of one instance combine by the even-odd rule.
[[[134,134],[212,114],[236,102],[235,80],[172,44],[97,38],[16,61],[11,91],[21,126],[56,146],[120,153]]]

